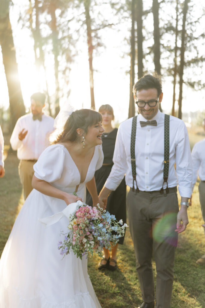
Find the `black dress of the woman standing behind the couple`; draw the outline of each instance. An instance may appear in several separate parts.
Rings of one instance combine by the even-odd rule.
[[[115,140],[117,136],[117,128],[110,133],[103,133],[102,136],[102,148],[104,153],[104,160],[102,167],[95,172],[95,180],[97,186],[97,193],[101,192],[101,189],[104,186],[105,181],[107,180],[110,171],[113,165],[113,153],[115,148]],[[92,205],[92,197],[90,196],[88,190],[86,195],[86,203],[88,205]],[[122,180],[120,185],[115,191],[112,191],[108,197],[108,203],[106,210],[115,215],[116,219],[119,221],[120,219],[123,220],[123,223],[126,222],[126,184],[125,179]],[[121,237],[119,240],[119,244],[123,244],[124,237]]]

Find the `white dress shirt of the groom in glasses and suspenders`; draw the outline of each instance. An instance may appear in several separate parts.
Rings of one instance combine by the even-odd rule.
[[[141,114],[137,116],[135,142],[136,181],[141,191],[159,191],[163,184],[164,114],[158,111],[152,120],[157,121],[157,126],[141,127],[140,121],[147,120]],[[114,165],[105,183],[105,187],[110,190],[117,188],[124,174],[126,174],[126,184],[132,187],[131,131],[132,118],[120,124],[118,129],[113,156]],[[182,197],[191,197],[192,162],[187,128],[182,120],[173,116],[170,116],[169,144],[168,187],[175,187],[179,184],[180,195]]]

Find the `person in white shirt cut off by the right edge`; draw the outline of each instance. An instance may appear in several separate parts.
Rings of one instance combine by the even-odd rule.
[[[202,125],[205,130],[205,119],[203,119]],[[197,142],[191,151],[192,165],[193,165],[192,190],[194,189],[194,185],[199,175],[200,178],[199,201],[201,205],[202,217],[205,222],[205,154],[204,153],[205,153],[205,139]],[[205,225],[202,226],[204,227]],[[196,263],[199,265],[205,265],[205,254],[201,256],[196,261]]]

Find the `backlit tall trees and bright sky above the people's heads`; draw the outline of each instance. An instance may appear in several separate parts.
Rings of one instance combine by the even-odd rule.
[[[162,110],[203,116],[205,4],[198,0],[1,0],[0,124],[10,132],[47,94],[53,117],[109,103],[117,122],[135,113],[134,82],[162,75]]]

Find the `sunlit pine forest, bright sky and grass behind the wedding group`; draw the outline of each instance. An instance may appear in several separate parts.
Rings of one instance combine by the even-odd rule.
[[[22,207],[18,159],[9,152],[16,120],[29,112],[30,95],[47,94],[53,117],[69,100],[74,107],[114,108],[116,122],[134,115],[134,82],[162,75],[163,112],[187,122],[190,146],[205,137],[205,4],[203,0],[0,0],[0,124],[6,174],[0,181],[0,254]],[[116,123],[117,124],[117,123]],[[194,128],[194,124],[199,124]],[[204,253],[197,182],[189,225],[179,237],[171,308],[205,307]],[[118,270],[89,274],[103,308],[135,308],[141,301],[129,229]],[[155,271],[155,264],[154,271]],[[155,272],[156,277],[156,272]]]

